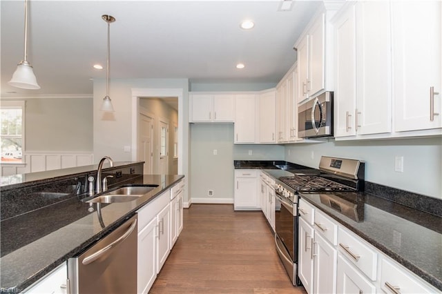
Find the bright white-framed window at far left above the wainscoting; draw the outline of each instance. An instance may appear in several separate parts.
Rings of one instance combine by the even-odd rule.
[[[24,101],[2,101],[1,106],[1,163],[23,164]]]

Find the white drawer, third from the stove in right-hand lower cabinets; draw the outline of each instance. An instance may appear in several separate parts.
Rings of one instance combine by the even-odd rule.
[[[376,266],[378,255],[376,251],[357,239],[352,233],[339,227],[338,250],[347,257],[357,268],[359,268],[372,281],[376,281]]]

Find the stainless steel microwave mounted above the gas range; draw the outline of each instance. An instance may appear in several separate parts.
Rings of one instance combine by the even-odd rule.
[[[318,97],[298,106],[298,137],[333,136],[333,92],[323,92]]]

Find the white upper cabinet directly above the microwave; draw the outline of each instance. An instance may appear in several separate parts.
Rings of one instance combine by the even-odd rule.
[[[333,30],[329,19],[334,10],[318,10],[302,37],[295,43],[298,51],[298,102],[333,90]]]

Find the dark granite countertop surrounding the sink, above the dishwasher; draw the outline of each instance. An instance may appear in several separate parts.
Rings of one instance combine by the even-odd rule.
[[[156,184],[132,202],[88,204],[73,195],[63,202],[1,222],[0,292],[21,292],[70,257],[132,217],[135,211],[182,179],[182,175],[140,175],[133,184]],[[83,198],[86,195],[83,196]],[[104,228],[99,223],[101,209]],[[17,245],[18,244],[18,245]],[[10,252],[9,252],[10,251]]]

